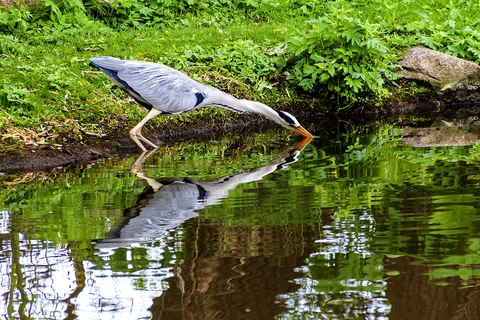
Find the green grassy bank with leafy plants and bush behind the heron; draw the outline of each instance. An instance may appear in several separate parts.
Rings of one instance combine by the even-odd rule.
[[[140,120],[144,110],[91,73],[91,56],[161,62],[280,109],[302,100],[300,108],[336,110],[387,97],[386,84],[398,80],[396,59],[413,45],[478,63],[479,16],[478,1],[466,0],[48,0],[1,7],[1,148],[32,138],[58,147]],[[146,128],[235,117],[200,109],[156,117]]]

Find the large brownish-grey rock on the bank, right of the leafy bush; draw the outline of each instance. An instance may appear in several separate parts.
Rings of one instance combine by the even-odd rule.
[[[480,101],[480,66],[472,61],[416,46],[398,63],[405,78],[438,87],[443,102]]]

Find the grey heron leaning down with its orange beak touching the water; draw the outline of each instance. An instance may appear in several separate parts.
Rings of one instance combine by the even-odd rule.
[[[143,151],[146,149],[140,140],[157,148],[141,135],[141,128],[149,119],[159,114],[180,114],[206,106],[237,113],[258,113],[305,137],[313,137],[288,112],[275,110],[260,102],[237,99],[163,64],[97,56],[90,58],[90,65],[102,70],[113,83],[149,110],[129,132],[131,139]]]

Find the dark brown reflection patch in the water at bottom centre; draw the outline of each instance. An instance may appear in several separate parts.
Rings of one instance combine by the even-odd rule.
[[[316,231],[205,222],[196,219],[194,256],[175,267],[168,289],[153,299],[152,318],[271,319],[285,311],[277,296],[300,287],[293,280],[314,251]]]

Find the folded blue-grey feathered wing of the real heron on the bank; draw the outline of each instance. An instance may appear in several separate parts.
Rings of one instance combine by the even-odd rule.
[[[204,98],[202,84],[166,65],[126,61],[117,75],[145,101],[165,113],[194,109]]]

